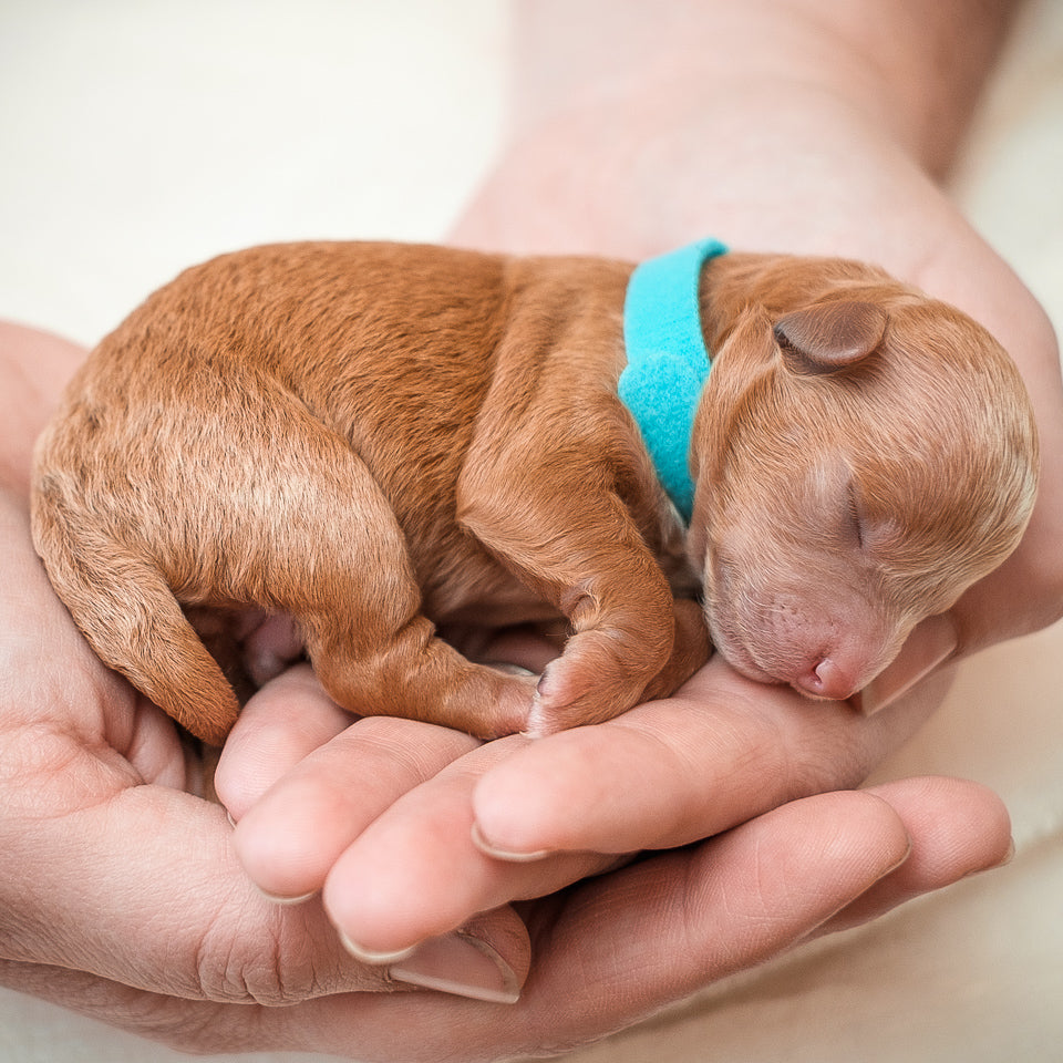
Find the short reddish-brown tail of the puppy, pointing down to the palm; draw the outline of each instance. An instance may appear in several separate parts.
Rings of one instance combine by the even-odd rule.
[[[39,492],[32,518],[52,586],[96,656],[198,739],[220,745],[239,701],[158,567],[59,492]]]

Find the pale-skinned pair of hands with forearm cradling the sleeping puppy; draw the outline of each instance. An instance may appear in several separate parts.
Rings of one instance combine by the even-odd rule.
[[[1045,487],[1020,551],[914,639],[894,685],[1063,612],[1055,341],[935,183],[1011,7],[701,0],[642,24],[646,6],[537,0],[518,14],[510,151],[454,234],[632,258],[712,234],[867,257],[995,332],[1038,406]],[[488,745],[352,725],[292,669],[226,746],[234,834],[189,795],[196,765],[169,721],[96,664],[29,545],[30,446],[82,357],[0,334],[3,982],[189,1049],[503,1059],[591,1041],[1007,859],[1007,812],[983,787],[847,789],[933,711],[947,670],[865,716],[720,661],[611,723]],[[485,648],[532,667],[549,652]],[[663,852],[616,866],[639,849]],[[278,905],[256,885],[314,896]],[[527,897],[541,899],[508,904]],[[433,982],[452,992],[411,988]],[[506,1007],[455,994],[522,987]]]

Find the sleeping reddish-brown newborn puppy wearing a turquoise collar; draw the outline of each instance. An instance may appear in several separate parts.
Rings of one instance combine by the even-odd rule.
[[[669,694],[709,632],[754,679],[850,696],[1018,545],[1029,401],[983,329],[878,269],[722,250],[187,270],[39,442],[56,592],[209,743],[303,647],[345,709],[482,736]],[[437,633],[558,617],[537,679]]]

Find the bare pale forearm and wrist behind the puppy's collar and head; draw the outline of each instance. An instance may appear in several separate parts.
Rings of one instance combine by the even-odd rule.
[[[911,235],[958,228],[936,185],[1015,8],[534,0],[508,148],[454,238],[639,258],[711,233],[919,282]]]

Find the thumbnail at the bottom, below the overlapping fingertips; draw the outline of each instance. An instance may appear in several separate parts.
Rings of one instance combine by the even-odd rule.
[[[389,974],[409,985],[489,1003],[514,1004],[520,998],[513,968],[491,945],[464,930],[422,942],[389,964]]]

